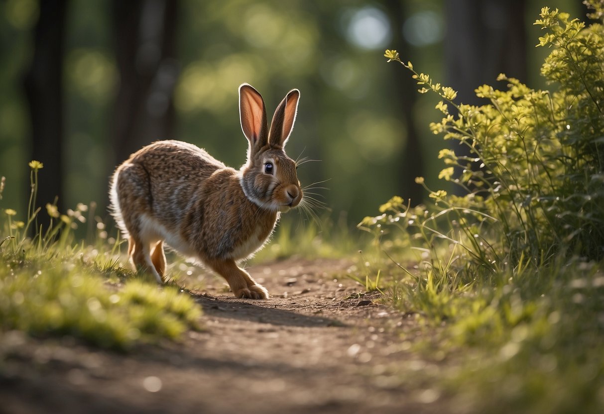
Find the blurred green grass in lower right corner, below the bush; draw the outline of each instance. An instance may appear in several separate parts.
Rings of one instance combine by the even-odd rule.
[[[428,328],[415,349],[439,369],[423,383],[451,398],[452,412],[602,412],[602,263],[560,259],[469,285],[424,269],[390,273],[386,294]]]

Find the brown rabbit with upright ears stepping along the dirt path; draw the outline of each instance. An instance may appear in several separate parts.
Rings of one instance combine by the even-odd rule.
[[[260,250],[281,212],[303,192],[284,146],[294,127],[300,91],[292,89],[266,122],[262,95],[239,86],[239,116],[247,161],[226,167],[202,148],[156,141],[133,153],[111,180],[111,211],[135,270],[165,275],[164,243],[226,279],[234,296],[267,299],[265,287],[237,265]]]

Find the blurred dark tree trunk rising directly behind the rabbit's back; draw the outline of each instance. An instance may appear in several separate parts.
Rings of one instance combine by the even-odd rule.
[[[173,138],[178,78],[176,0],[114,0],[115,101],[112,168],[143,145]]]

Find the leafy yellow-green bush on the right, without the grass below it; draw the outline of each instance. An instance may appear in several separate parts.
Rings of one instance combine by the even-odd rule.
[[[396,51],[385,54],[413,72],[420,92],[442,98],[436,107],[445,118],[431,124],[432,132],[471,153],[440,151],[446,165],[440,177],[467,194],[430,191],[436,208],[421,227],[447,215],[449,233],[437,236],[457,235],[475,262],[494,269],[515,266],[521,254],[533,264],[557,253],[604,258],[604,28],[584,28],[547,7],[541,18],[536,24],[548,33],[539,46],[553,48],[541,72],[559,84],[557,91],[536,91],[502,74],[498,79],[507,82],[506,91],[489,85],[476,90],[489,103],[456,104],[451,88],[418,74]],[[454,178],[455,169],[461,174]],[[487,234],[502,237],[485,244],[480,240]]]

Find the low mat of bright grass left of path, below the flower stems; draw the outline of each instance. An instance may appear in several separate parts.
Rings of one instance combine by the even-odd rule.
[[[117,276],[107,278],[107,269],[82,264],[79,256],[23,260],[2,253],[0,329],[129,349],[198,328],[201,309],[178,288],[140,280],[122,286]]]

